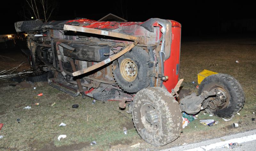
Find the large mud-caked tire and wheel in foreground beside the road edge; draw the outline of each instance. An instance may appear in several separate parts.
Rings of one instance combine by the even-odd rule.
[[[143,89],[135,95],[132,119],[140,137],[154,146],[174,141],[182,131],[178,102],[160,87]]]

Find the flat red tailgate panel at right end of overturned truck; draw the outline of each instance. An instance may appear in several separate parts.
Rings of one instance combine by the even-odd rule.
[[[173,23],[173,20],[171,20]],[[179,64],[180,70],[180,33],[181,33],[181,25],[180,23],[175,22],[175,26],[172,24],[172,45],[171,45],[171,55],[170,58],[164,61],[164,75],[168,76],[168,80],[164,81],[164,86],[167,88],[169,92],[176,86],[179,81],[179,74],[176,75],[176,66]]]

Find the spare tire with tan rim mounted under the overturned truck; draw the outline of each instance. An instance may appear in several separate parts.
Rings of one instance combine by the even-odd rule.
[[[112,70],[118,86],[130,93],[148,87],[150,83],[148,71],[153,69],[148,67],[148,61],[148,53],[140,47],[132,48],[132,51],[115,60]]]

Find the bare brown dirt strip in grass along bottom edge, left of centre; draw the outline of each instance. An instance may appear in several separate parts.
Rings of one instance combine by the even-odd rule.
[[[56,147],[54,145],[54,142],[52,141],[48,145],[45,145],[43,148],[38,149],[38,151],[74,151],[74,150],[82,149],[82,148],[88,147],[88,146],[90,146],[89,142]],[[36,148],[32,147],[30,150],[34,151],[35,149]]]

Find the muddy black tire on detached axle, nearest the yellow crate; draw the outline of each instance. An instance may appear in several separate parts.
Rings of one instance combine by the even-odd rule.
[[[209,114],[219,117],[229,117],[244,107],[245,96],[243,88],[233,76],[215,74],[204,78],[199,85],[198,94],[203,91],[211,91],[213,88],[220,90],[222,99],[218,99],[218,97],[208,98],[213,99],[205,109]]]

